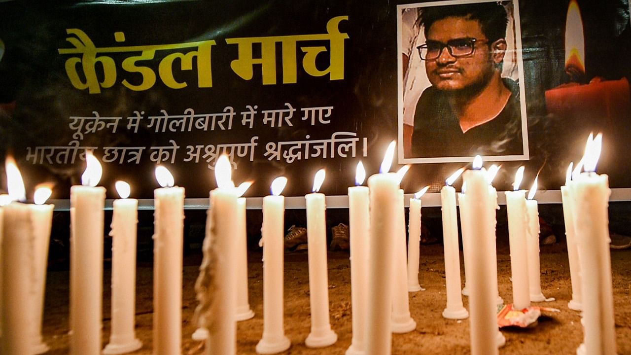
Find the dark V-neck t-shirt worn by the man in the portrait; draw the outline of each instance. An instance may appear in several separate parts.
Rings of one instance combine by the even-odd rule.
[[[423,91],[414,116],[412,152],[415,158],[522,155],[519,85],[502,78],[512,93],[497,117],[463,133],[444,92]]]

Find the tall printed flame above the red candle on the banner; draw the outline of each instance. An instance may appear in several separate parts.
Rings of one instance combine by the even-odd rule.
[[[585,73],[585,39],[581,9],[576,0],[570,1],[565,22],[565,68]]]

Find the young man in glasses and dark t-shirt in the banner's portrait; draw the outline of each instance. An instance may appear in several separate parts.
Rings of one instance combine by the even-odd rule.
[[[418,55],[432,86],[416,104],[414,157],[521,155],[519,85],[501,77],[507,13],[500,3],[425,8]]]

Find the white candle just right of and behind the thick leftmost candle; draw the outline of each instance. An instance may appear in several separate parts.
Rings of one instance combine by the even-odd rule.
[[[31,231],[33,232],[33,277],[32,290],[32,344],[33,354],[43,354],[49,347],[42,339],[42,321],[44,315],[44,294],[46,287],[46,267],[48,264],[48,248],[50,244],[50,228],[52,227],[52,210],[55,205],[44,205],[50,197],[50,188],[42,187],[35,191],[35,205],[31,208]]]

